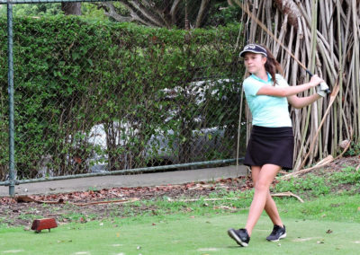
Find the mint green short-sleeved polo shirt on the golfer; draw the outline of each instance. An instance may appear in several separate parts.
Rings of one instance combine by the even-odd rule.
[[[275,86],[289,86],[282,75],[276,74],[275,79]],[[286,97],[257,95],[258,90],[266,84],[273,85],[269,73],[267,73],[267,81],[256,75],[250,75],[243,82],[247,105],[253,116],[253,125],[267,128],[293,127]]]

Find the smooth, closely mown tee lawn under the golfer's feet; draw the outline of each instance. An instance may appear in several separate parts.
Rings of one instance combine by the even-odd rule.
[[[263,215],[247,248],[229,238],[247,215],[165,215],[62,224],[50,232],[0,230],[0,254],[360,254],[360,224],[284,218],[287,237],[267,242]]]

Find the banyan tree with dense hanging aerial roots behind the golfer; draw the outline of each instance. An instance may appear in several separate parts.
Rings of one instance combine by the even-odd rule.
[[[360,1],[229,2],[244,11],[241,21],[241,32],[247,40],[244,43],[257,42],[270,48],[282,64],[289,84],[302,84],[310,79],[294,59],[297,58],[330,87],[328,97],[301,110],[291,109],[294,170],[327,156],[341,155],[349,147],[359,145]],[[249,121],[247,125],[249,130]]]

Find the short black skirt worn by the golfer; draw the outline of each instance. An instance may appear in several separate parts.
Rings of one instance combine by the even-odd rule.
[[[293,128],[253,126],[244,164],[263,166],[271,163],[284,170],[293,169]]]

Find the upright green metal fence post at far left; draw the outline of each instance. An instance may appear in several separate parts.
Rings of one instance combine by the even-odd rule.
[[[13,4],[7,4],[7,59],[9,93],[9,195],[15,193],[14,163],[14,59],[13,59]]]

